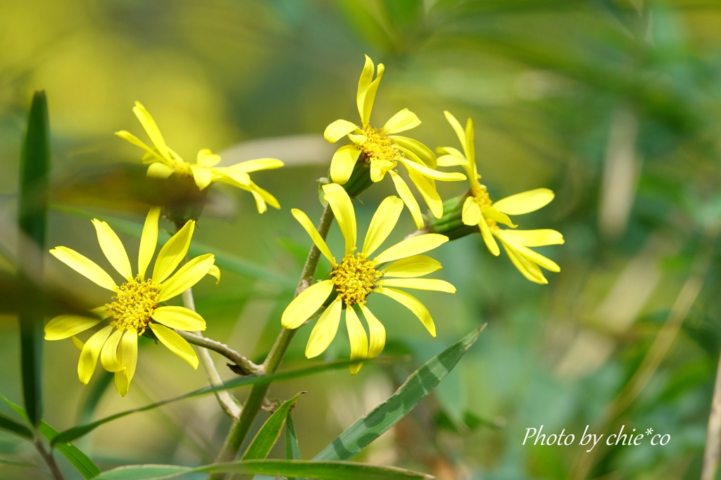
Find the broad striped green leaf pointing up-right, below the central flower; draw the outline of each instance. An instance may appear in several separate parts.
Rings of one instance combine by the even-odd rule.
[[[314,460],[348,460],[376,440],[386,430],[405,417],[418,402],[453,370],[476,342],[485,325],[467,334],[443,352],[415,370],[405,383],[384,403],[358,419],[333,442],[314,457]]]

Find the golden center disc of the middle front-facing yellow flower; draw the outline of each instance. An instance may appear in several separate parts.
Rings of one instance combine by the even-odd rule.
[[[375,262],[366,259],[366,254],[362,253],[346,255],[340,264],[331,265],[335,290],[346,305],[366,303],[366,297],[383,276],[374,266]]]

